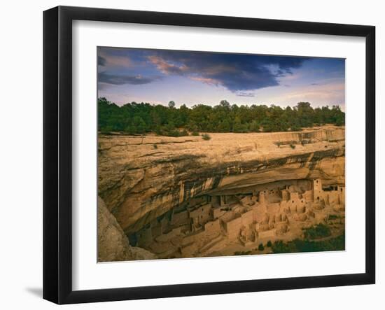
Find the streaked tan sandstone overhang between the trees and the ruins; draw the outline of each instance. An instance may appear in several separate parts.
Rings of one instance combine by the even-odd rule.
[[[323,126],[213,133],[209,141],[99,135],[99,195],[125,234],[132,234],[199,195],[239,193],[284,180],[320,178],[325,186],[344,185],[344,134],[344,127]]]

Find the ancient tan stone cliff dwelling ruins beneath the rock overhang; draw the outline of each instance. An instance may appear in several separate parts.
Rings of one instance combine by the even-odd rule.
[[[323,188],[320,178],[278,181],[231,195],[202,195],[130,234],[130,244],[159,258],[218,255],[236,244],[255,248],[301,237],[303,227],[344,213],[344,197],[344,186]]]

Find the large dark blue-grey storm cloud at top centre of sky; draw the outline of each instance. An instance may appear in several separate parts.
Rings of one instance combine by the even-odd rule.
[[[181,75],[231,92],[279,85],[278,78],[293,73],[305,57],[262,56],[212,52],[147,51],[159,71]]]

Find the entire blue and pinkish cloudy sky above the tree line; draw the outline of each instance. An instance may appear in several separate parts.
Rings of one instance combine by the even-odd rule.
[[[345,104],[344,59],[98,48],[98,97],[176,106]]]

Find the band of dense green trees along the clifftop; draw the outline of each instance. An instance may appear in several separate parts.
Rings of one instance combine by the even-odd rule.
[[[185,104],[176,108],[131,102],[118,106],[106,98],[98,99],[99,132],[165,136],[199,135],[199,132],[286,132],[324,124],[342,126],[345,113],[339,106],[313,108],[309,102],[298,102],[291,108],[280,106],[237,106],[222,100],[217,106]]]

